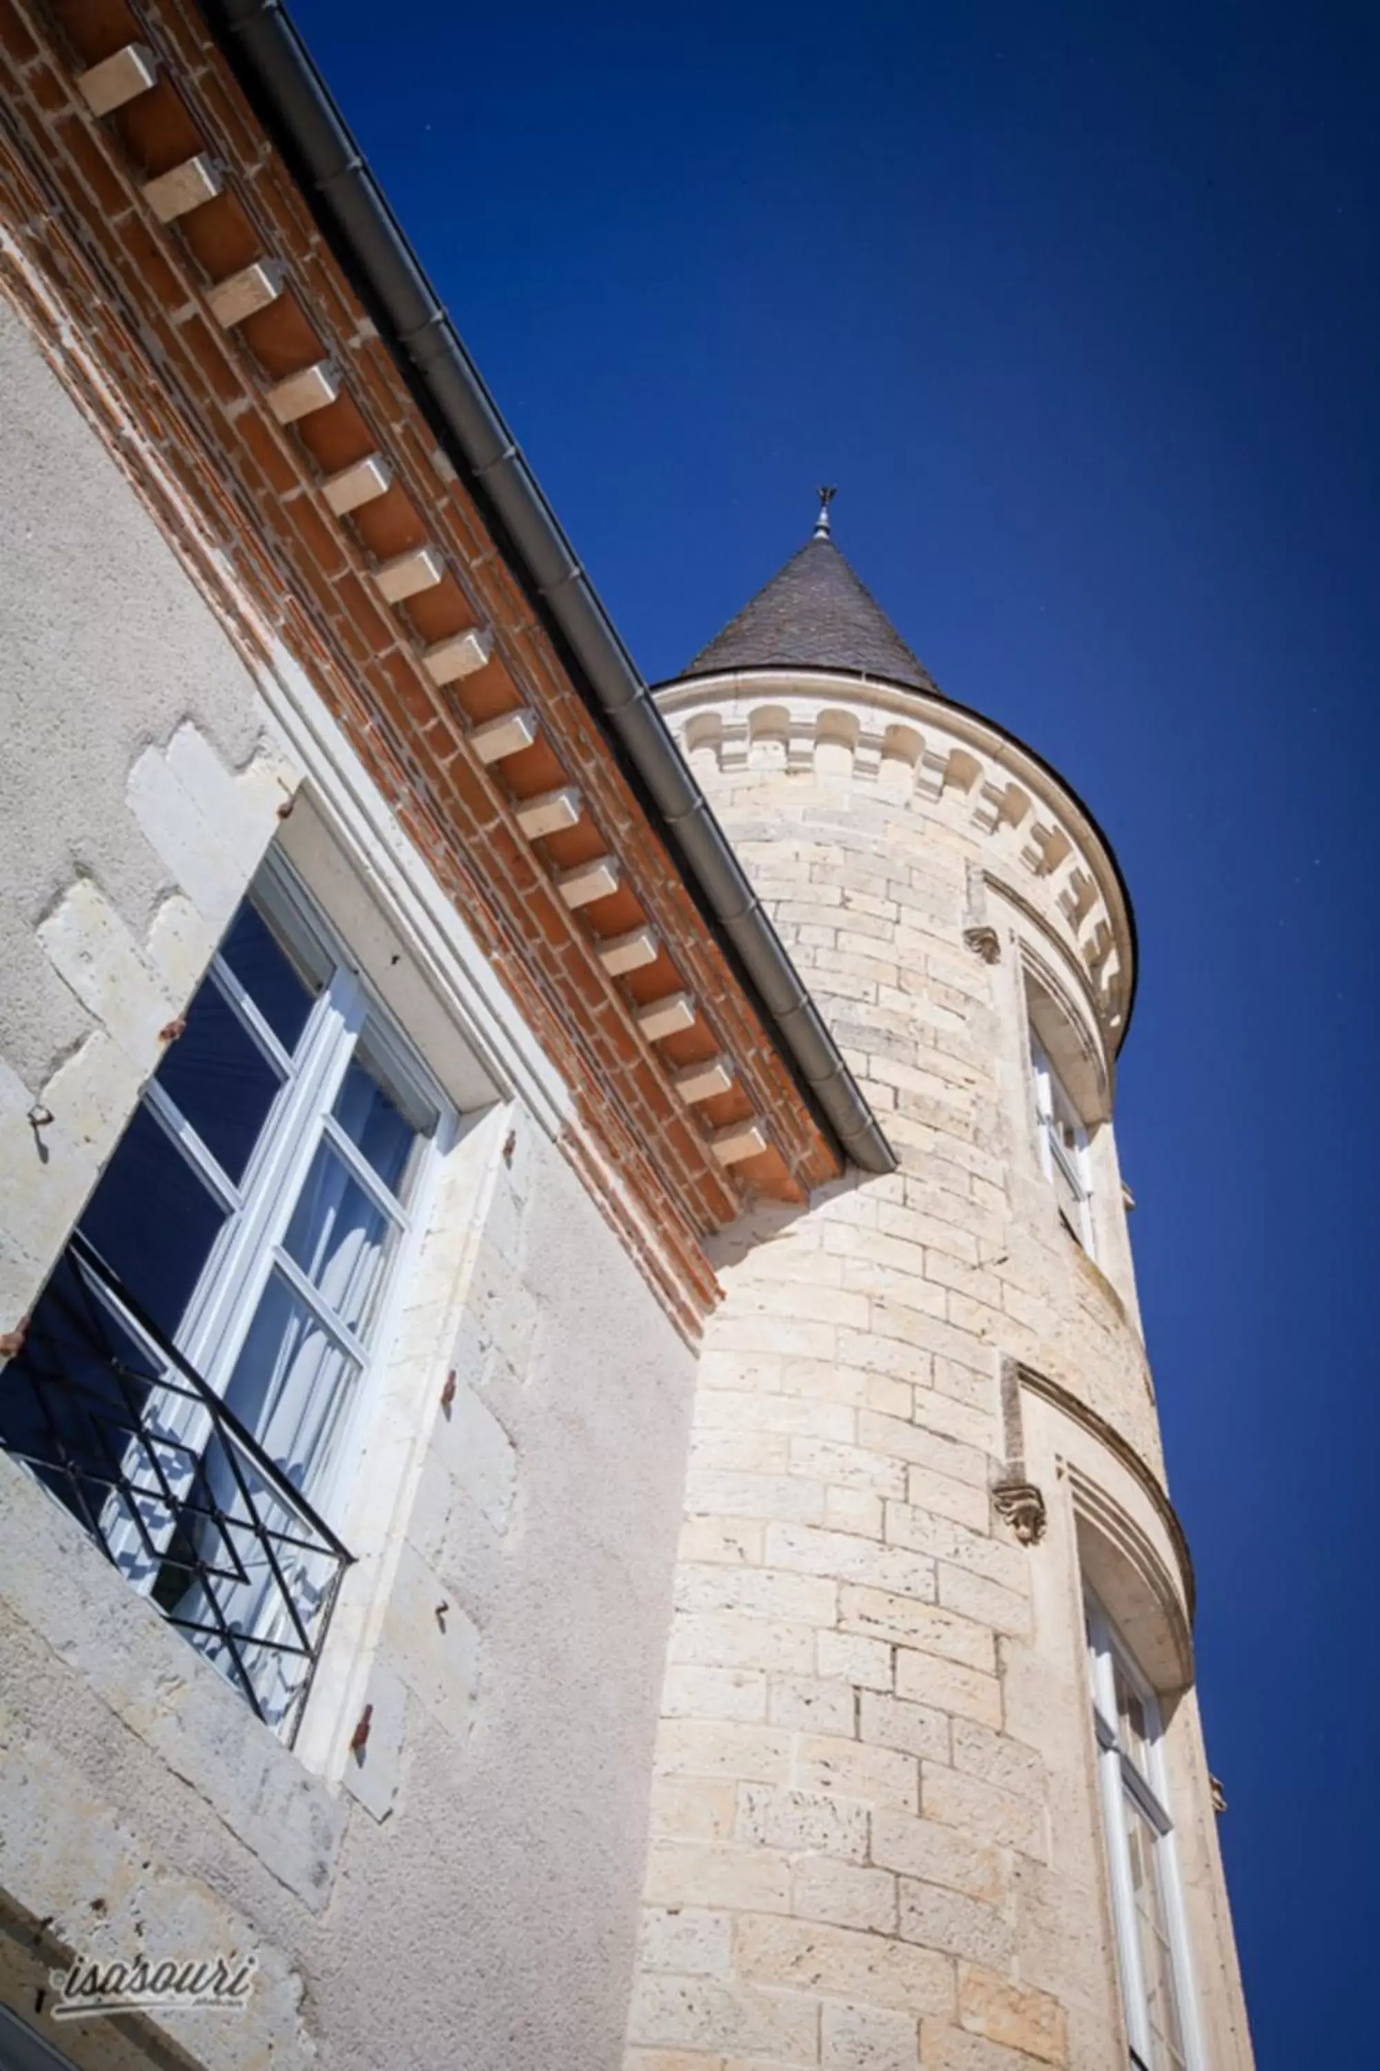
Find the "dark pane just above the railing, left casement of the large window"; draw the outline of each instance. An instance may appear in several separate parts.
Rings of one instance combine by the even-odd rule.
[[[87,1201],[81,1232],[134,1301],[176,1338],[226,1214],[145,1106]]]

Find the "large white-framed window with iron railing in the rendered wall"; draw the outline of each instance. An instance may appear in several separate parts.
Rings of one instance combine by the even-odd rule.
[[[0,1371],[0,1443],[279,1727],[343,1557],[314,1526],[449,1127],[271,857]]]

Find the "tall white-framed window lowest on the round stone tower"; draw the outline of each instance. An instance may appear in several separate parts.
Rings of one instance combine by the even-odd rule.
[[[1086,1626],[1132,2065],[1136,2071],[1202,2071],[1159,1702],[1092,1595],[1086,1597]]]

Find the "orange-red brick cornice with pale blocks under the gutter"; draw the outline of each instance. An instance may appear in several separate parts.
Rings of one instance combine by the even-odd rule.
[[[205,251],[197,257],[141,195],[145,174],[163,170],[147,159],[157,151],[151,124],[137,137],[141,166],[130,135],[99,122],[74,89],[81,68],[130,29],[161,56],[176,120],[226,168],[234,232],[248,226],[290,282],[277,329],[261,325],[252,342],[215,321],[219,275]],[[617,1176],[625,1241],[660,1251],[652,1278],[662,1299],[679,1286],[683,1321],[701,1313],[714,1280],[699,1238],[739,1212],[743,1183],[799,1195],[836,1160],[476,505],[190,6],[161,0],[134,14],[68,0],[43,25],[37,10],[0,0],[0,62],[10,296],[238,650],[263,665],[281,640],[306,671],[571,1085],[586,1176]],[[286,356],[314,350],[312,338],[294,344],[294,311],[310,319],[350,406],[389,456],[397,495],[387,522],[406,534],[420,520],[445,557],[449,588],[428,599],[430,621],[418,611],[408,623],[379,599],[377,541],[370,553],[368,532],[331,509],[319,456],[265,402],[271,381],[292,373]],[[437,621],[437,609],[453,623]],[[461,623],[492,640],[470,706],[422,661],[428,640]],[[540,743],[497,770],[476,754],[472,727],[515,702],[536,714]],[[581,824],[565,849],[559,837],[534,843],[519,820],[552,766],[579,787]],[[617,853],[629,911],[660,942],[646,973],[612,978],[600,959],[608,936],[557,888],[561,866],[598,849]],[[695,1002],[689,1050],[654,1046],[637,1027],[639,1004],[674,986]],[[710,1052],[730,1058],[734,1087],[691,1112],[672,1073]],[[772,1147],[724,1168],[712,1135],[747,1116],[766,1122]]]

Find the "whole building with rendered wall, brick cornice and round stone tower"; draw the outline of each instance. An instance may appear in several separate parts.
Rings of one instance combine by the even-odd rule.
[[[1094,824],[828,520],[654,700],[279,8],[0,81],[0,2065],[1250,2065]]]

